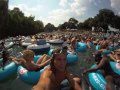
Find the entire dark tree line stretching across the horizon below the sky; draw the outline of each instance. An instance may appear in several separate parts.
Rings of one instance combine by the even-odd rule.
[[[79,22],[74,17],[55,27],[48,23],[44,26],[40,20],[35,20],[34,16],[25,16],[17,7],[8,10],[8,0],[0,0],[0,38],[17,35],[32,35],[40,32],[52,32],[54,30],[78,29],[91,30],[91,28],[103,28],[105,31],[108,26],[120,29],[120,16],[115,15],[112,10],[101,9],[99,13],[88,18],[84,22]]]

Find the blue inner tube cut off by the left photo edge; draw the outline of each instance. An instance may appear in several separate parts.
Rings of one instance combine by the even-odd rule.
[[[0,68],[0,81],[4,81],[10,78],[13,74],[16,74],[17,67],[18,66],[14,62],[10,62],[4,67],[4,70]]]

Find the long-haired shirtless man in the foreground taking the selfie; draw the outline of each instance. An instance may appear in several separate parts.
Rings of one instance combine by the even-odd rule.
[[[66,70],[66,55],[61,50],[53,53],[50,66],[44,70],[33,90],[60,90],[60,84],[65,79],[68,79],[71,90],[82,90],[80,78]]]

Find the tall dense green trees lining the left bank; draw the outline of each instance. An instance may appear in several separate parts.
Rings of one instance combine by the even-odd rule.
[[[2,5],[2,8],[6,8],[6,6]],[[0,26],[2,26],[2,28],[0,28],[0,38],[17,35],[32,35],[43,32],[44,25],[42,21],[35,21],[33,16],[26,17],[24,13],[17,7],[13,10],[8,10],[7,8],[6,11],[2,8],[0,8],[0,11],[5,13],[0,14],[0,18],[7,19],[1,20],[1,22],[4,23],[6,21],[7,23],[0,23]]]

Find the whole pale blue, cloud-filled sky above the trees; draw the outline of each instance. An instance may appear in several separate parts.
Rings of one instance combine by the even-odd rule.
[[[34,16],[46,25],[55,26],[75,18],[83,22],[100,9],[110,9],[120,15],[120,0],[9,0],[9,9],[18,7],[25,16]]]

